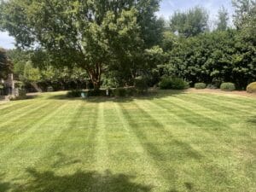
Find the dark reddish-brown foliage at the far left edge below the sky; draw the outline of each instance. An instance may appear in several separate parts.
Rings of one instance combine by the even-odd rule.
[[[0,48],[0,79],[6,79],[12,72],[12,63],[9,61],[5,49]]]

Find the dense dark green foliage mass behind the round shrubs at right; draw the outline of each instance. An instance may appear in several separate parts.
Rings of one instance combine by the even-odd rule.
[[[241,43],[236,30],[207,32],[179,39],[168,53],[165,68],[193,84],[219,86],[222,82],[233,82],[238,88],[246,88],[256,79],[255,50],[249,43]]]

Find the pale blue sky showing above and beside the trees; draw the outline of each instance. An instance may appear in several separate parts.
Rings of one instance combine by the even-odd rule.
[[[207,9],[210,15],[210,25],[212,26],[214,23],[213,20],[216,19],[218,14],[218,9],[222,5],[228,9],[231,18],[233,13],[231,0],[162,0],[160,3],[160,11],[157,15],[167,20],[176,10],[184,11],[195,6],[201,6]],[[7,32],[0,32],[0,47],[12,49],[15,47],[14,43],[15,39],[9,37]]]

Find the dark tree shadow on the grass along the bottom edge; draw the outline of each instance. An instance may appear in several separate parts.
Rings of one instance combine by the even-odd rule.
[[[15,192],[149,192],[152,187],[139,183],[133,183],[134,177],[125,174],[113,174],[106,171],[82,172],[78,171],[70,175],[56,175],[55,172],[38,172],[35,169],[27,169],[32,180],[26,185],[15,186]],[[2,190],[3,191],[3,190]]]

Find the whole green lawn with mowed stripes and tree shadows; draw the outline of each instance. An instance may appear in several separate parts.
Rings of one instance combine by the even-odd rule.
[[[256,191],[256,99],[166,91],[0,105],[0,191]]]

